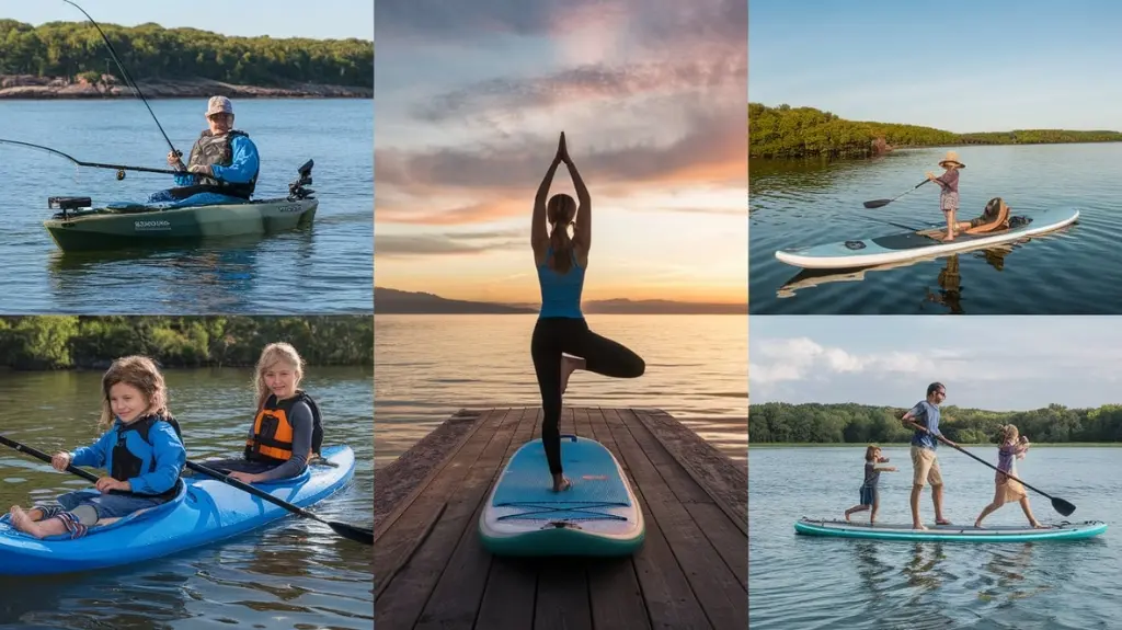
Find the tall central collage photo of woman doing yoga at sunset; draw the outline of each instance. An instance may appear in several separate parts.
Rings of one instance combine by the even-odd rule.
[[[747,627],[746,3],[377,15],[377,627]]]

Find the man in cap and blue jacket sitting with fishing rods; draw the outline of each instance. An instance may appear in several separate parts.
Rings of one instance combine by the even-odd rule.
[[[211,96],[206,122],[209,128],[191,148],[186,165],[175,151],[167,154],[167,164],[181,172],[176,187],[151,194],[148,203],[215,205],[241,203],[254,194],[260,158],[249,136],[233,128],[230,99]]]

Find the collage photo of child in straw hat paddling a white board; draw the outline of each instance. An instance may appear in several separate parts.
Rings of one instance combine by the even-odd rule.
[[[753,314],[1122,313],[1118,7],[1055,9],[752,2]]]

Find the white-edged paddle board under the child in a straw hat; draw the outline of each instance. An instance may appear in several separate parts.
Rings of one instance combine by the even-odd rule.
[[[931,224],[916,232],[779,250],[775,252],[775,258],[780,262],[802,269],[857,269],[922,258],[938,258],[1054,232],[1075,223],[1079,219],[1079,211],[1046,210],[1032,213],[1030,217],[1031,222],[1003,230],[996,234],[959,234],[949,243],[928,235],[940,231],[940,224]],[[945,229],[944,224],[942,230]]]

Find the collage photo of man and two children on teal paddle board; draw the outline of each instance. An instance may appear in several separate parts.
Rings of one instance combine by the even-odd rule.
[[[1115,626],[1118,322],[962,322],[752,318],[754,630]]]

